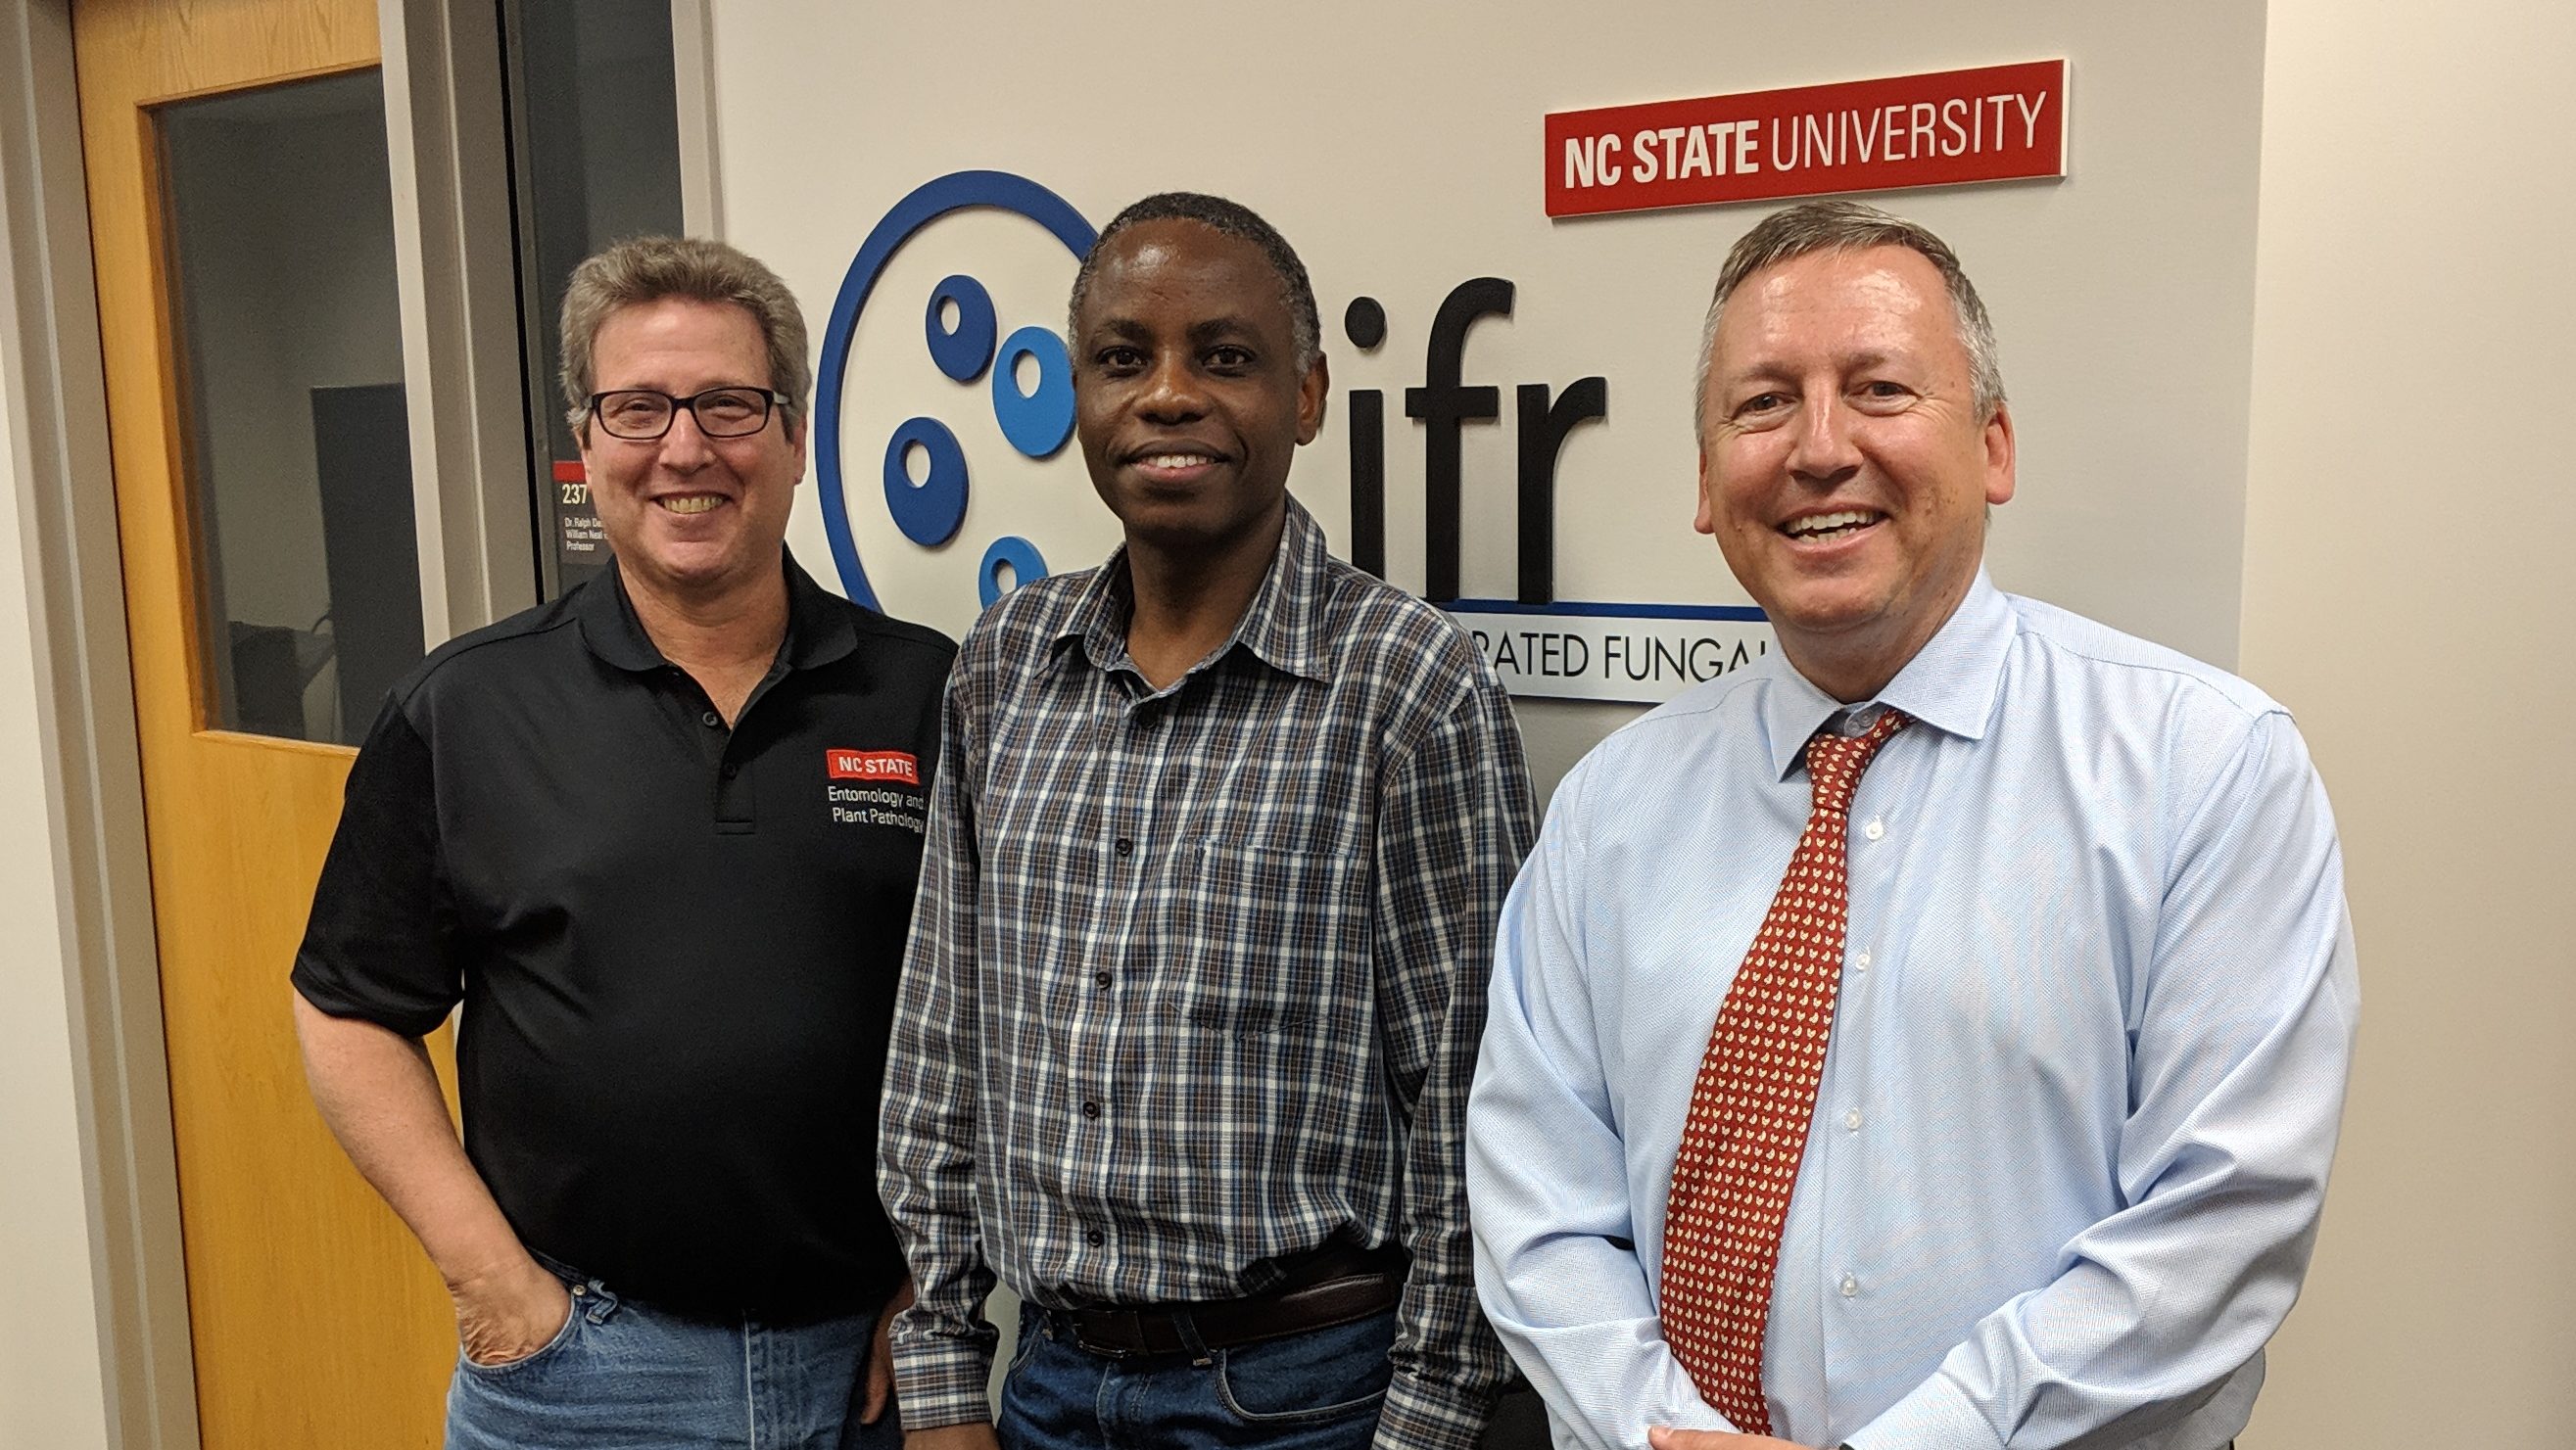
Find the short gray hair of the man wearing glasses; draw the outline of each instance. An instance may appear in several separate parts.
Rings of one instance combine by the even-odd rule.
[[[564,402],[572,433],[590,425],[592,345],[626,306],[680,296],[729,301],[752,314],[770,353],[770,389],[786,394],[788,422],[804,417],[814,373],[804,358],[804,312],[778,273],[703,237],[634,237],[572,268],[564,288]]]

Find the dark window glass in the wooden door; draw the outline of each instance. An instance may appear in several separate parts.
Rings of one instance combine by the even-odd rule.
[[[355,744],[420,662],[384,80],[155,113],[201,719]]]

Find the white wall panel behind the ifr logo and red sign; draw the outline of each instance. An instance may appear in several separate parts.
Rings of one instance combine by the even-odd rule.
[[[1512,592],[1512,384],[1600,373],[1610,417],[1579,428],[1558,469],[1558,598],[1747,603],[1690,531],[1690,373],[1718,260],[1770,206],[1548,221],[1543,116],[2066,57],[2066,180],[1880,201],[1958,245],[2004,337],[2022,494],[1996,513],[1996,579],[2236,659],[2259,5],[1989,0],[1891,18],[1850,0],[1314,0],[1190,15],[1198,28],[1172,33],[1043,0],[714,8],[724,234],[788,278],[819,335],[868,229],[951,170],[1028,175],[1092,224],[1164,188],[1255,206],[1314,273],[1334,381],[1291,487],[1347,551],[1347,391],[1383,389],[1388,577],[1412,587],[1422,425],[1401,394],[1448,288],[1512,278],[1515,314],[1479,322],[1466,348],[1466,381],[1504,389],[1499,425],[1466,430],[1466,592]],[[1074,265],[1025,221],[958,216],[907,245],[860,314],[840,440],[860,556],[889,610],[956,634],[987,541],[1025,533],[1074,569],[1115,525],[1079,458],[1018,458],[981,384],[930,368],[922,304],[951,270],[992,288],[1007,332],[1061,327]],[[1373,353],[1342,332],[1360,294],[1386,304]],[[935,551],[894,531],[878,492],[884,440],[914,412],[951,422],[974,471],[963,531]],[[811,500],[791,543],[827,564]],[[1540,788],[1631,713],[1525,703]]]

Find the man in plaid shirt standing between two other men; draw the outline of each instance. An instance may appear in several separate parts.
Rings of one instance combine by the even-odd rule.
[[[1260,216],[1126,209],[1069,332],[1126,546],[1002,598],[948,683],[884,1107],[909,1445],[1468,1447],[1507,1375],[1461,1123],[1533,834],[1510,706],[1288,497],[1327,376]]]

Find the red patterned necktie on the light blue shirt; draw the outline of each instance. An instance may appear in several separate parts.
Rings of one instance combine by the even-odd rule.
[[[1747,1435],[1770,1435],[1762,1326],[1770,1321],[1780,1226],[1816,1115],[1824,1040],[1842,981],[1850,901],[1844,824],[1878,747],[1909,721],[1886,711],[1857,737],[1806,742],[1816,804],[1798,852],[1744,953],[1700,1079],[1664,1205],[1664,1339],[1690,1383]]]

